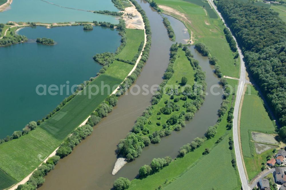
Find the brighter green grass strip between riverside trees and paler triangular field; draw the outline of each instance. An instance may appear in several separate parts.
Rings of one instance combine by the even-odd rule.
[[[230,85],[237,85],[237,80],[227,79]],[[229,96],[229,104],[228,109],[231,107],[231,99],[232,97]],[[131,186],[129,189],[156,189],[160,185],[166,184],[168,181],[174,181],[182,173],[186,172],[190,167],[194,164],[198,163],[200,158],[203,158],[202,153],[205,151],[206,148],[212,149],[215,146],[215,142],[221,137],[225,136],[226,132],[228,132],[227,128],[227,114],[225,114],[217,128],[217,133],[215,136],[209,140],[206,140],[200,147],[194,149],[194,151],[187,153],[184,157],[175,159],[170,163],[169,166],[164,167],[160,172],[150,175],[144,179],[134,179],[131,182]],[[212,152],[212,151],[211,151]],[[231,161],[229,161],[231,163]],[[214,164],[215,165],[215,164]],[[232,166],[231,166],[232,168]],[[215,168],[215,171],[219,170],[219,167]],[[201,170],[202,171],[202,170]],[[203,170],[203,173],[206,170]],[[193,175],[197,175],[197,173],[193,173]],[[237,174],[238,175],[238,174]],[[203,179],[206,179],[204,176]],[[221,180],[220,178],[218,180]],[[190,180],[188,180],[190,182]],[[190,186],[188,186],[190,187]],[[237,180],[237,187],[240,187],[239,181]],[[202,188],[205,189],[205,188]]]

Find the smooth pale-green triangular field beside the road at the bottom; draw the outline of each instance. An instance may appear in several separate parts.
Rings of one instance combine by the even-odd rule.
[[[212,189],[238,190],[237,171],[232,166],[229,137],[231,131],[215,146],[212,151],[202,156],[199,161],[182,176],[167,185],[164,190],[173,189]],[[227,178],[225,178],[227,176]]]

